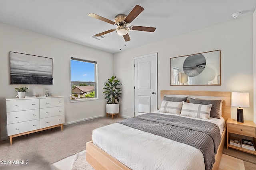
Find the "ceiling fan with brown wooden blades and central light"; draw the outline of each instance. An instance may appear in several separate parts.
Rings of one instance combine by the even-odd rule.
[[[112,31],[116,31],[119,35],[122,35],[124,37],[125,41],[130,41],[130,37],[128,35],[128,32],[130,30],[136,30],[136,31],[148,31],[148,32],[154,32],[156,30],[155,27],[142,27],[142,26],[129,26],[128,25],[144,10],[144,8],[142,8],[139,5],[136,5],[132,11],[130,12],[130,14],[128,14],[128,16],[124,15],[124,14],[118,14],[115,17],[115,21],[111,21],[108,20],[106,18],[103,18],[102,16],[98,16],[96,14],[90,13],[88,14],[88,16],[92,17],[92,18],[96,18],[98,20],[102,20],[104,22],[110,23],[112,25],[117,25],[118,27],[115,29],[110,29],[108,31],[104,31],[102,33],[98,33],[95,36],[99,37],[101,35],[110,33]]]

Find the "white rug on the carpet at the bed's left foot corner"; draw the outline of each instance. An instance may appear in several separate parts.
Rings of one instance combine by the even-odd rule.
[[[52,164],[53,170],[94,170],[86,161],[86,150]]]

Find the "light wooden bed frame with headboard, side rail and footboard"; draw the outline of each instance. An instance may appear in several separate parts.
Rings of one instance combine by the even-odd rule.
[[[220,100],[222,99],[222,117],[227,121],[231,115],[231,92],[214,92],[214,91],[184,91],[184,90],[161,90],[161,99],[164,98],[164,95],[184,95],[192,98],[201,98],[206,99],[209,97],[216,97]],[[204,96],[206,98],[204,98]],[[208,99],[209,100],[209,99]],[[162,100],[161,100],[162,101]],[[223,133],[221,135],[220,146],[218,147],[217,154],[215,156],[215,163],[212,170],[218,170],[220,165],[220,159],[222,156],[222,150],[226,141],[226,125],[224,127]],[[86,160],[87,162],[95,169],[95,170],[130,170],[127,166],[104,152],[104,150],[100,149],[96,145],[92,143],[92,141],[86,143]]]

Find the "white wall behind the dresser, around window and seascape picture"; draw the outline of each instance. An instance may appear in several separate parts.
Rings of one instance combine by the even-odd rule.
[[[83,35],[81,35],[83,36]],[[4,98],[15,97],[14,88],[27,86],[28,92],[48,89],[65,97],[65,123],[105,115],[104,82],[113,75],[113,54],[48,37],[25,29],[0,23],[0,137],[7,137]],[[94,40],[92,40],[94,41]],[[11,84],[9,78],[9,51],[49,57],[53,59],[53,85]],[[99,100],[69,102],[70,57],[98,62]]]

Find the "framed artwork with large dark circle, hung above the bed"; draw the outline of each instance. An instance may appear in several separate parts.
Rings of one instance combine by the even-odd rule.
[[[170,86],[221,85],[221,50],[170,58]]]

